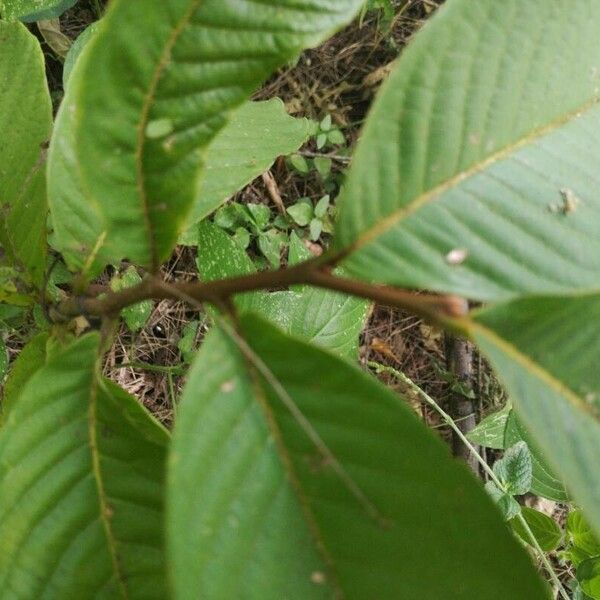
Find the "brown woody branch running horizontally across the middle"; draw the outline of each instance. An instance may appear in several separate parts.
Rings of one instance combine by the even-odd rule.
[[[334,275],[331,257],[320,256],[300,265],[278,271],[261,271],[251,275],[210,282],[179,282],[165,286],[157,278],[147,278],[140,284],[120,292],[99,293],[96,297],[71,297],[51,307],[53,321],[60,322],[80,315],[114,317],[128,306],[143,300],[178,300],[182,296],[195,302],[227,305],[232,296],[257,290],[281,290],[291,285],[313,285],[351,296],[373,300],[378,304],[394,306],[425,317],[434,322],[446,322],[462,317],[467,303],[457,296],[416,294],[395,287],[365,283]],[[96,292],[100,292],[94,286]],[[89,291],[92,292],[93,288]]]

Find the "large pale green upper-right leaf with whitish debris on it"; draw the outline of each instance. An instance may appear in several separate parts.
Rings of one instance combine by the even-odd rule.
[[[340,200],[352,274],[487,300],[598,289],[599,21],[594,0],[440,8]]]

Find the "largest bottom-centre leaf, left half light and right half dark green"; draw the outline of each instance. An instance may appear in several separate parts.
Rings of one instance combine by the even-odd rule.
[[[183,393],[175,598],[546,598],[476,480],[400,398],[255,315],[241,330],[269,381],[213,330]]]

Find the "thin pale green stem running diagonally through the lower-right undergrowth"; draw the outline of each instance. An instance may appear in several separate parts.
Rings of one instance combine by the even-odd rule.
[[[479,454],[479,452],[477,452],[475,446],[473,446],[473,444],[471,444],[471,442],[466,438],[466,436],[460,430],[458,425],[456,425],[456,423],[454,422],[454,419],[447,412],[445,412],[442,409],[442,407],[429,394],[427,394],[424,390],[422,390],[412,379],[407,377],[401,371],[394,369],[393,367],[381,365],[381,364],[379,364],[377,362],[373,362],[373,361],[369,361],[367,363],[367,365],[369,367],[375,369],[378,372],[390,373],[391,375],[396,377],[398,380],[400,380],[402,383],[404,383],[405,385],[410,387],[422,400],[424,400],[429,406],[431,406],[431,408],[433,408],[442,417],[442,419],[446,422],[448,427],[450,427],[452,429],[452,431],[458,436],[458,438],[462,441],[462,443],[473,453],[473,456],[479,462],[479,464],[481,465],[483,470],[489,475],[490,479],[500,489],[503,489],[502,482],[498,479],[498,477],[496,477],[496,474],[494,473],[492,468],[487,464],[487,462],[483,459],[481,454]],[[535,537],[535,535],[533,535],[533,531],[531,531],[531,528],[529,527],[527,521],[525,520],[525,517],[523,516],[523,514],[521,512],[519,512],[519,514],[517,515],[517,519],[519,519],[519,522],[521,523],[521,525],[523,526],[523,529],[527,533],[527,537],[529,538],[531,545],[535,548],[537,554],[539,555],[539,558],[542,561],[544,567],[546,568],[546,571],[550,575],[550,579],[552,579],[552,583],[556,586],[556,589],[558,590],[559,595],[561,596],[561,598],[563,598],[563,600],[570,600],[569,595],[567,594],[565,588],[563,587],[562,583],[560,582],[558,575],[555,573],[554,568],[552,567],[552,564],[548,560],[546,553],[540,547],[540,544],[537,541],[537,538]]]

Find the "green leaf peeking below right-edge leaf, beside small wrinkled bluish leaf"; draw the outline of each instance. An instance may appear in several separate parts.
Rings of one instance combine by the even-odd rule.
[[[506,424],[504,436],[505,447],[512,446],[520,441],[524,441],[527,444],[531,454],[531,493],[549,498],[555,502],[567,502],[569,495],[565,490],[565,486],[554,475],[548,465],[548,461],[539,449],[536,448],[535,442],[519,421],[515,411],[511,411]]]

